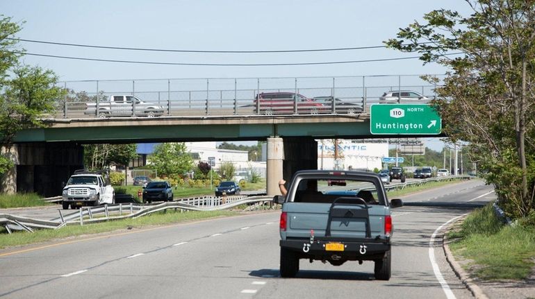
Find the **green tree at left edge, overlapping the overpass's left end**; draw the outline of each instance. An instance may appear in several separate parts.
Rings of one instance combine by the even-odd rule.
[[[18,49],[15,34],[21,30],[10,17],[0,15],[0,174],[13,167],[8,152],[20,130],[42,128],[42,117],[54,112],[53,103],[61,96],[52,71],[19,63],[24,50]]]

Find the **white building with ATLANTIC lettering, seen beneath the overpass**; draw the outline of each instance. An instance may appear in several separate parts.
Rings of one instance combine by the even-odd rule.
[[[382,169],[382,158],[388,157],[387,142],[338,140],[338,161],[334,159],[332,139],[318,140],[318,169]]]

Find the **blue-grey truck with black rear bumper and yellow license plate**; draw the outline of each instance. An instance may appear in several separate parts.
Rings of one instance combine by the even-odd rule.
[[[381,178],[361,171],[297,171],[282,204],[281,277],[294,277],[299,259],[340,266],[347,261],[375,262],[375,279],[390,279],[390,208]]]

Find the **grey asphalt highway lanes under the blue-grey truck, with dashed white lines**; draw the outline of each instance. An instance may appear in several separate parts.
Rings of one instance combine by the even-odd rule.
[[[279,277],[279,212],[263,212],[0,250],[0,298],[472,298],[445,261],[443,225],[494,198],[480,180],[402,197],[389,281],[372,262],[301,260]]]

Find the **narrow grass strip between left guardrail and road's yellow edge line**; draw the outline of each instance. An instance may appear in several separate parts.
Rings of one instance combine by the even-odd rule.
[[[0,227],[0,248],[35,244],[53,239],[62,239],[83,234],[98,234],[101,232],[113,232],[115,230],[127,230],[129,228],[145,228],[151,225],[163,225],[179,223],[190,220],[209,219],[220,216],[236,214],[229,211],[214,212],[160,212],[143,216],[137,219],[122,219],[104,223],[88,225],[69,225],[59,230],[35,230],[33,233],[14,232],[8,234],[7,230]]]

